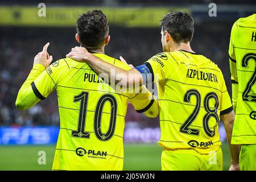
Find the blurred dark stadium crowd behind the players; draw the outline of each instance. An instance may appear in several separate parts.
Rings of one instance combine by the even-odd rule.
[[[230,93],[230,73],[228,64],[229,34],[232,23],[200,23],[195,26],[192,49],[207,56],[218,64],[224,72]],[[32,68],[34,56],[43,45],[50,42],[49,53],[54,60],[63,58],[75,41],[74,28],[0,28],[0,125],[59,125],[56,92],[27,111],[19,111],[15,100],[21,83]],[[115,58],[119,56],[133,64],[143,64],[151,56],[162,52],[160,28],[122,28],[110,26],[111,40],[105,53]],[[142,127],[157,127],[157,118],[146,118],[129,105],[126,121],[135,121]]]

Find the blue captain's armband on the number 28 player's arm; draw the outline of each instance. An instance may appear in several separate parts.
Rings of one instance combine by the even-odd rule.
[[[135,67],[135,69],[137,69],[141,73],[143,77],[143,84],[146,85],[147,83],[154,82],[154,73],[149,63],[145,63],[143,65]]]

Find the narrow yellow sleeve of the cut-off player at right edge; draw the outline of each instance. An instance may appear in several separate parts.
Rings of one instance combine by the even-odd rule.
[[[234,50],[234,43],[236,38],[236,32],[237,32],[237,22],[233,24],[231,34],[230,34],[230,41],[229,41],[229,66],[230,66],[230,72],[232,77],[235,81],[238,81],[237,78],[237,60],[236,60],[236,52]]]

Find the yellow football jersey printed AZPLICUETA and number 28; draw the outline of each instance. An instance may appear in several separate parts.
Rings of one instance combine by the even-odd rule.
[[[145,63],[158,85],[161,137],[167,150],[218,151],[220,115],[233,110],[221,70],[203,55],[163,52]]]

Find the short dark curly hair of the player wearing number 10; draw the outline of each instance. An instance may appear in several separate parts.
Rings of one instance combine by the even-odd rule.
[[[77,33],[83,46],[99,48],[109,35],[109,24],[101,10],[90,10],[77,19]]]

